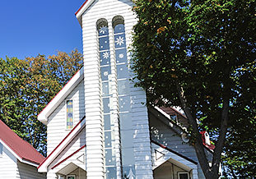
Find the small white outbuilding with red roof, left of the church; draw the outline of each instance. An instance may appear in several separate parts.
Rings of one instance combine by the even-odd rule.
[[[43,155],[0,120],[0,178],[44,179],[45,173],[37,172],[43,160]]]

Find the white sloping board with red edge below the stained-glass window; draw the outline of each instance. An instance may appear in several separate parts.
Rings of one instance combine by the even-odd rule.
[[[49,164],[52,163],[56,157],[58,157],[58,155],[63,151],[63,149],[65,149],[65,147],[67,147],[70,141],[74,139],[76,134],[81,131],[81,127],[84,126],[85,123],[86,120],[82,120],[81,123],[78,126],[76,126],[71,131],[71,133],[64,138],[64,140],[60,142],[60,144],[53,150],[53,152],[49,154],[47,158],[45,158],[44,162],[40,164],[38,172],[48,172],[47,168]]]

